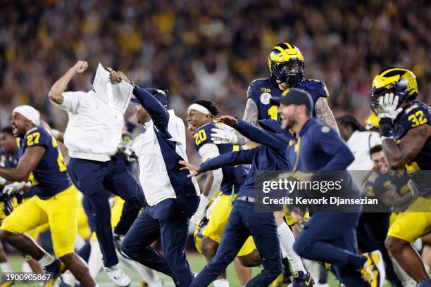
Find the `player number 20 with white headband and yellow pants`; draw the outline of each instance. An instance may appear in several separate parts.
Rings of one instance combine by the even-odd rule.
[[[213,144],[211,140],[211,129],[215,127],[221,129],[229,128],[221,123],[215,123],[213,119],[216,115],[218,115],[217,106],[215,106],[215,103],[206,100],[194,101],[187,110],[187,129],[193,133],[195,147],[203,162],[215,158],[222,153],[242,150],[240,146],[234,146],[232,144]],[[232,210],[233,196],[237,195],[239,187],[242,186],[249,171],[250,169],[247,165],[237,165],[235,167],[227,166],[207,172],[206,184],[201,195],[198,210],[196,210],[196,213],[190,221],[199,225],[201,219],[204,218],[206,206],[210,203],[210,200],[214,198],[215,193],[219,190],[223,193],[223,196],[215,203],[208,225],[201,234],[201,250],[208,262],[213,259],[218,245],[220,244],[227,219],[230,215],[230,210]],[[199,226],[197,228],[199,228]],[[238,256],[240,260],[243,256],[251,254],[255,249],[256,245],[254,245],[253,238],[249,236],[242,249],[239,250]],[[244,258],[244,260],[246,259]],[[260,258],[258,261],[260,261]],[[239,273],[249,273],[246,269],[243,269],[244,267],[241,268],[238,265],[236,265],[236,267]],[[247,282],[242,282],[243,285],[246,283]],[[228,286],[227,284],[226,272],[220,274],[218,279],[214,281],[215,287]]]

